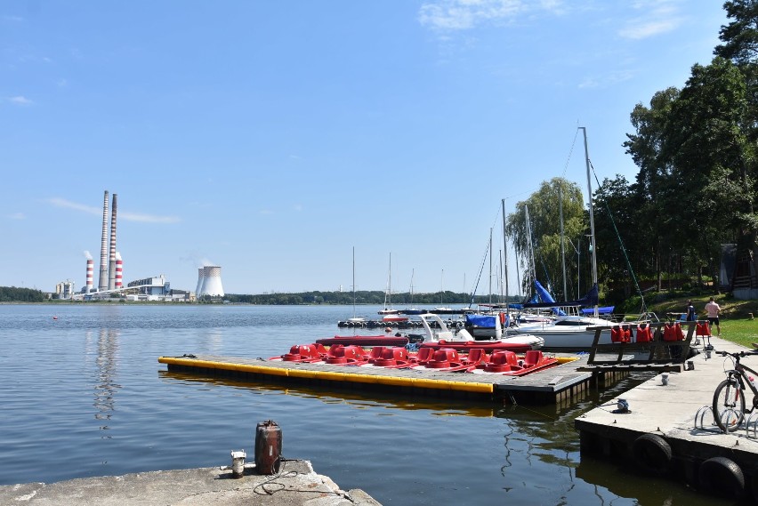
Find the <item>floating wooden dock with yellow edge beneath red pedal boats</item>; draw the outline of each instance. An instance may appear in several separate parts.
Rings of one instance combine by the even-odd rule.
[[[357,365],[308,364],[263,358],[184,355],[159,357],[168,370],[259,382],[328,385],[330,388],[384,390],[423,397],[487,398],[520,404],[560,404],[599,382],[626,373],[579,371],[586,355],[556,354],[560,365],[523,376],[445,373]]]

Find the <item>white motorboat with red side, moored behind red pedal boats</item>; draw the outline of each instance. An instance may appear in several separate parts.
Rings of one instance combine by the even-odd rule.
[[[476,339],[466,329],[460,329],[456,333],[448,330],[448,325],[439,315],[427,313],[419,315],[419,317],[424,330],[426,330],[426,336],[419,345],[420,348],[448,348],[459,351],[470,349],[493,351],[497,349],[523,353],[529,349],[541,349],[544,343],[542,338],[535,335],[503,333],[501,325],[497,325],[494,337]],[[439,330],[433,330],[429,320],[434,322]],[[500,323],[499,318],[497,322]]]

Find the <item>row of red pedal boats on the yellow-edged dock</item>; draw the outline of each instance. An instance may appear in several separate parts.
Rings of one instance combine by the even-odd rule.
[[[420,371],[456,373],[494,373],[521,376],[534,373],[559,362],[539,349],[530,349],[524,355],[510,350],[469,349],[459,353],[457,349],[422,347],[409,352],[399,346],[375,346],[364,349],[355,345],[336,344],[325,348],[322,344],[295,344],[289,353],[270,357],[273,361],[304,364],[353,365],[386,369],[413,369]]]

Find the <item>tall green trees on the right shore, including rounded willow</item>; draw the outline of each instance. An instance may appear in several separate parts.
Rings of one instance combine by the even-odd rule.
[[[633,108],[623,146],[639,168],[635,180],[591,179],[603,301],[667,288],[715,292],[727,282],[719,279],[722,245],[735,245],[738,274],[758,272],[758,2],[724,9],[730,22],[711,63],[693,65],[681,89]],[[592,285],[590,236],[580,187],[545,181],[506,220],[522,288],[536,278],[556,300],[584,295]]]

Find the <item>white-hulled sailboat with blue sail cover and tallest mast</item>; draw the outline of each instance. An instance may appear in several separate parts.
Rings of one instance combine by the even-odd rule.
[[[552,309],[554,317],[548,321],[516,325],[512,327],[513,333],[529,333],[537,335],[544,339],[544,348],[548,349],[590,349],[593,345],[596,326],[612,327],[617,325],[608,319],[601,318],[598,310],[599,288],[598,288],[598,269],[597,255],[595,247],[595,220],[593,213],[593,188],[590,179],[590,157],[587,150],[587,131],[584,126],[579,128],[585,134],[585,163],[587,165],[587,190],[589,192],[590,206],[590,239],[593,251],[593,287],[589,293],[577,301],[556,302],[552,300],[550,294],[544,290],[542,285],[533,277],[536,290],[541,294],[543,302],[524,304],[524,308]],[[541,290],[542,289],[542,290]],[[586,316],[581,312],[582,307],[592,306],[593,315]],[[610,343],[610,333],[601,333],[601,344]]]

